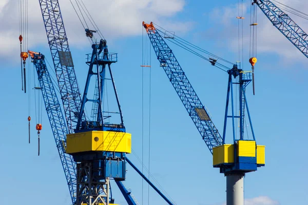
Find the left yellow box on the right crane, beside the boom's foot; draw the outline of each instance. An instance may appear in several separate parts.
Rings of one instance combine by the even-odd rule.
[[[221,145],[213,148],[213,165],[234,162],[234,146]]]

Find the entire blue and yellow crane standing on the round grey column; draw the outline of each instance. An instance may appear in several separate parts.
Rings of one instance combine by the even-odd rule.
[[[252,120],[245,95],[245,88],[252,81],[251,72],[245,72],[242,69],[239,69],[237,65],[233,65],[232,69],[227,69],[226,71],[229,77],[224,129],[223,136],[221,137],[214,122],[211,120],[208,110],[205,109],[205,106],[201,103],[174,53],[161,36],[161,31],[156,28],[152,22],[150,24],[143,22],[143,27],[146,29],[161,67],[167,74],[170,83],[179,95],[209,151],[213,154],[213,166],[220,168],[220,172],[224,173],[226,176],[227,205],[243,205],[243,177],[245,173],[256,171],[257,167],[265,165],[265,148],[264,146],[256,144]],[[174,38],[170,35],[165,37],[167,39]],[[175,44],[179,45],[179,41],[175,41]],[[182,48],[185,48],[185,45],[188,45],[186,41],[182,45]],[[200,50],[200,48],[198,49]],[[213,66],[218,64],[217,59],[210,58],[207,60]],[[234,81],[233,78],[236,80]],[[235,114],[234,109],[236,100],[234,99],[234,86],[237,86],[239,90],[239,97],[237,99],[239,102],[239,115]],[[229,99],[231,100],[231,106],[229,106]],[[231,115],[228,114],[229,110],[232,111]],[[248,115],[248,125],[251,128],[253,139],[244,137],[245,113]],[[228,118],[232,119],[233,144],[225,144]],[[239,119],[240,125],[239,138],[236,137],[236,119]]]

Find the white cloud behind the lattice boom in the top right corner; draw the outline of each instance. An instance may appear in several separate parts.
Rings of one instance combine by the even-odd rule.
[[[308,9],[308,1],[299,0],[281,0],[279,1],[285,5],[292,5],[293,8],[300,11]],[[251,6],[248,2],[243,5],[244,22],[244,38],[243,45],[246,48],[246,53],[249,52],[249,31],[250,31],[250,9]],[[213,28],[214,31],[208,31],[209,37],[216,37],[226,39],[224,45],[232,51],[238,51],[238,22],[236,19],[237,5],[226,6],[223,8],[216,8],[210,14],[213,20],[219,19],[218,26]],[[286,11],[286,13],[288,13]],[[294,14],[289,15],[304,31],[308,32],[308,22]],[[306,57],[292,45],[291,42],[280,32],[264,13],[257,8],[257,52],[258,53],[276,53],[283,60],[300,60],[306,61]],[[217,35],[217,30],[219,35]],[[228,31],[228,32],[226,32]],[[211,32],[211,33],[210,33]],[[215,35],[216,34],[216,35]]]

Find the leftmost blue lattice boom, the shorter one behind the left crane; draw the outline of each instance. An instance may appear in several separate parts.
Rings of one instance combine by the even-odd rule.
[[[47,115],[64,169],[72,204],[74,204],[76,201],[76,163],[71,155],[65,153],[66,134],[68,133],[66,121],[45,64],[45,56],[34,53],[31,58],[37,72],[38,81],[40,82]]]

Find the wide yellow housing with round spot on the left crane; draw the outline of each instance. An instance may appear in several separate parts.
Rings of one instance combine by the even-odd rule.
[[[86,151],[131,152],[131,134],[125,132],[89,131],[67,135],[66,153]]]

